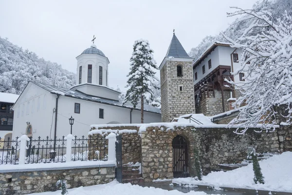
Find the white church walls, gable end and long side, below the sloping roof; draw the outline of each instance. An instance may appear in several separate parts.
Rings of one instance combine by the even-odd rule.
[[[33,97],[30,98],[30,94],[33,94]],[[43,104],[44,95],[46,95],[45,104]],[[39,111],[37,111],[38,97],[41,99]],[[29,121],[33,127],[33,138],[37,138],[38,136],[46,138],[51,135],[53,139],[55,131],[55,114],[53,113],[53,109],[55,108],[56,97],[56,95],[30,83],[14,107],[13,137],[20,137],[25,134],[27,127],[26,121]],[[31,114],[31,102],[33,99],[35,99],[35,108],[33,114]],[[28,101],[30,101],[30,108],[29,114],[26,115]],[[80,103],[80,114],[74,113],[74,103]],[[24,116],[21,117],[23,104],[25,105]],[[19,117],[17,117],[18,105],[20,107]],[[99,118],[99,108],[104,109],[104,118]],[[60,96],[58,100],[57,137],[61,138],[70,134],[71,126],[69,124],[69,118],[71,116],[75,119],[73,135],[78,137],[87,137],[91,124],[107,124],[110,122],[130,123],[130,109],[128,108]],[[145,123],[161,122],[160,114],[144,112],[144,118]],[[132,111],[132,123],[140,123],[140,111]]]

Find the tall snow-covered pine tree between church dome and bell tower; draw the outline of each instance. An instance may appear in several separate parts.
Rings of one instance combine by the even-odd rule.
[[[156,61],[153,59],[153,52],[147,40],[139,39],[133,45],[133,53],[130,58],[130,72],[127,76],[128,84],[126,86],[129,89],[123,104],[129,101],[136,108],[138,101],[141,100],[141,123],[144,123],[144,100],[146,103],[153,101],[153,88],[151,89],[151,87],[159,88],[153,85],[158,80],[152,70],[158,69]]]

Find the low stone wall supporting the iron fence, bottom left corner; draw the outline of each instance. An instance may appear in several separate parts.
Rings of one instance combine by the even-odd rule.
[[[68,168],[62,170],[0,171],[1,195],[24,195],[56,191],[56,182],[66,179],[68,188],[108,183],[115,179],[115,167]]]

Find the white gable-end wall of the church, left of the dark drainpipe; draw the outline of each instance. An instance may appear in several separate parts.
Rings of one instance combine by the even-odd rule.
[[[34,138],[50,136],[54,104],[55,98],[50,92],[29,83],[13,107],[13,137],[26,134],[26,121],[32,125]]]

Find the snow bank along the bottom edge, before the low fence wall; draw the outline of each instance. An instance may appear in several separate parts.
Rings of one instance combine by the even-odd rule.
[[[121,184],[112,181],[108,184],[100,184],[89,187],[79,187],[68,190],[68,195],[207,195],[204,192],[191,191],[189,193],[179,192],[177,190],[167,191],[154,187],[141,187],[129,183]],[[34,193],[31,195],[60,195],[61,191]]]

